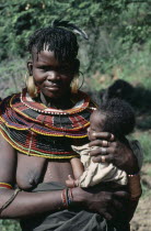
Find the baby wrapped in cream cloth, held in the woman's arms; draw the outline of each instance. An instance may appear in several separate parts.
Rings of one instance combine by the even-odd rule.
[[[111,99],[91,114],[90,128],[88,129],[89,140],[95,140],[94,132],[109,132],[121,141],[125,135],[132,132],[135,122],[135,113],[128,102],[117,98]],[[81,158],[71,160],[74,179],[68,176],[66,180],[68,187],[86,188],[105,182],[127,185],[127,174],[124,170],[113,164],[103,162],[105,158],[102,158],[102,163],[92,161],[89,153],[97,146],[89,147],[89,144],[84,144],[83,146],[72,145],[72,148],[80,154]],[[107,147],[102,148],[104,148],[104,152],[107,151]]]

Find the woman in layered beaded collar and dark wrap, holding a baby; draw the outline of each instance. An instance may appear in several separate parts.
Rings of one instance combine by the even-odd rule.
[[[1,102],[1,219],[21,219],[22,230],[120,230],[116,218],[121,211],[130,217],[137,205],[136,200],[133,208],[126,209],[129,195],[107,186],[65,189],[68,175],[72,176],[70,158],[78,156],[71,144],[88,142],[89,119],[95,109],[74,85],[80,62],[73,30],[85,36],[73,24],[59,21],[36,31],[28,43],[27,88]],[[94,162],[102,161],[107,146],[106,162],[127,174],[138,173],[128,145],[109,133],[94,136],[90,143],[98,146],[91,153]]]

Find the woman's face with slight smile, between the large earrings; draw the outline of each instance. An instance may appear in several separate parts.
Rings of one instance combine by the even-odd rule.
[[[47,50],[38,54],[34,52],[33,62],[28,62],[27,66],[35,85],[46,97],[59,99],[69,94],[73,79],[71,65],[59,63],[54,52]]]

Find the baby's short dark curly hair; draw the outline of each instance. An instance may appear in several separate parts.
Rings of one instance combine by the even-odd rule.
[[[113,98],[104,102],[98,111],[105,114],[103,131],[111,132],[118,139],[132,132],[136,117],[132,107],[128,102]]]

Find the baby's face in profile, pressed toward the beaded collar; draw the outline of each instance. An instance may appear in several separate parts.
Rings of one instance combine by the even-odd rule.
[[[90,141],[94,141],[95,136],[94,133],[103,132],[103,124],[105,121],[106,116],[94,111],[90,117],[90,127],[88,128],[88,136]]]

